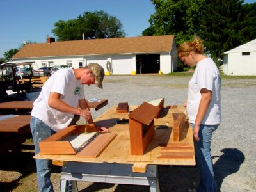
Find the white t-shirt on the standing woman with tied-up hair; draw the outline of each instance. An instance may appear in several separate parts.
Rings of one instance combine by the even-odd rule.
[[[211,58],[205,58],[198,62],[188,88],[187,113],[190,123],[195,124],[202,88],[212,91],[212,99],[201,124],[217,125],[221,123],[220,87],[220,72],[214,61]]]

